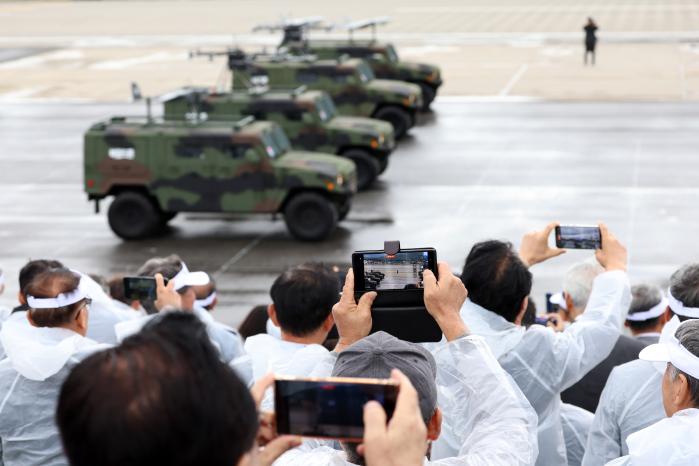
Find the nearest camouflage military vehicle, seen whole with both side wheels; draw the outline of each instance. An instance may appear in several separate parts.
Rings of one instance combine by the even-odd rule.
[[[85,190],[113,196],[109,226],[124,239],[162,231],[178,212],[282,213],[300,240],[327,237],[356,191],[354,164],[290,150],[283,130],[252,117],[235,124],[123,117],[85,134]]]

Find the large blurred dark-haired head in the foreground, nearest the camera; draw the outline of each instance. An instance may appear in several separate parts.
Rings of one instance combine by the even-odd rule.
[[[196,316],[177,312],[78,364],[56,423],[72,466],[231,466],[258,430],[245,384]]]

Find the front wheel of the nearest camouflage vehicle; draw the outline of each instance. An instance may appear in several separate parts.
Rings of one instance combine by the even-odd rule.
[[[320,241],[337,226],[335,204],[318,193],[297,194],[284,208],[284,221],[289,232],[301,241]]]

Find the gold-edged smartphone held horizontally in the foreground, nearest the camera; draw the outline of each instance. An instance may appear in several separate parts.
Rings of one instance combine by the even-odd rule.
[[[364,405],[378,401],[390,419],[397,397],[398,385],[388,379],[277,377],[277,432],[361,442]]]

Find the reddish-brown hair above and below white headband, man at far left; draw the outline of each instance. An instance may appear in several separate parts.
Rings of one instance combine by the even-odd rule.
[[[36,275],[22,291],[25,296],[35,298],[55,298],[61,293],[75,291],[80,285],[80,275],[61,268],[48,269]],[[27,312],[37,327],[61,327],[75,319],[78,311],[85,304],[85,299],[63,307],[33,309]]]

